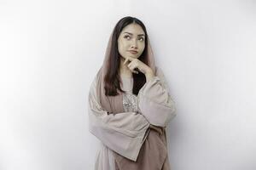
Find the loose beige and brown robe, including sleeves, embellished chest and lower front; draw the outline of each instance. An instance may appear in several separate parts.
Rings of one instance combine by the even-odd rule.
[[[109,114],[97,94],[98,76],[90,85],[89,129],[101,141],[95,170],[169,170],[166,126],[176,116],[166,79],[160,68],[132,94],[133,78],[121,77],[124,112]]]

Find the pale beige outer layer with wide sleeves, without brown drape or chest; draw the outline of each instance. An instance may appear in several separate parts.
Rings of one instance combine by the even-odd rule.
[[[97,77],[90,85],[89,129],[90,133],[102,142],[96,169],[110,170],[114,169],[113,151],[131,161],[137,160],[142,144],[148,136],[148,127],[166,127],[176,116],[175,102],[168,93],[166,79],[158,67],[155,77],[140,89],[137,95],[138,111],[134,112],[113,115],[103,111],[96,94],[96,82]]]

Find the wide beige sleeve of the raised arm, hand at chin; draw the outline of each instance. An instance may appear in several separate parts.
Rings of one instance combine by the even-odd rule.
[[[156,75],[140,89],[138,110],[148,122],[159,127],[166,127],[176,116],[175,102],[169,94],[163,71],[156,67]]]

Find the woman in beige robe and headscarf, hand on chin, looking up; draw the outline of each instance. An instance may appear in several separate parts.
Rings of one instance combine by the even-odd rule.
[[[169,170],[166,126],[175,105],[141,20],[125,17],[90,85],[90,133],[101,140],[96,170]]]

